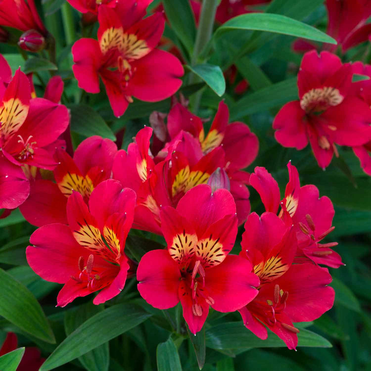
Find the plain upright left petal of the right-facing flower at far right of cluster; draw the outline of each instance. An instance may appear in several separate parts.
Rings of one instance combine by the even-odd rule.
[[[277,213],[279,206],[279,188],[276,180],[266,168],[256,167],[250,175],[250,185],[259,193],[266,211]]]

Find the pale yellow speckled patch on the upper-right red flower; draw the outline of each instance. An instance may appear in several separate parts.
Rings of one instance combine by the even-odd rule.
[[[300,100],[300,107],[307,113],[321,112],[330,106],[340,104],[344,96],[338,89],[331,87],[315,88],[305,93]]]

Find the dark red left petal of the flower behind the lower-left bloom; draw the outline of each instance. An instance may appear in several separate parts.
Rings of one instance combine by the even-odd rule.
[[[58,186],[40,179],[31,183],[30,196],[19,210],[27,222],[41,227],[51,223],[67,224],[66,205],[67,198]]]

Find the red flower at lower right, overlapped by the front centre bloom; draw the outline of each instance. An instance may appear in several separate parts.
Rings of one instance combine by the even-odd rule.
[[[299,330],[293,322],[313,321],[333,305],[335,292],[327,286],[331,276],[313,264],[292,265],[295,233],[273,213],[249,215],[241,246],[240,256],[260,278],[258,295],[239,310],[244,325],[261,339],[268,337],[266,325],[295,349]]]

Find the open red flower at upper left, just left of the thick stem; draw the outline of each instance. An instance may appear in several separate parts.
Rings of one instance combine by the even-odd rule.
[[[130,0],[134,3],[137,0]],[[80,39],[72,47],[73,71],[79,87],[98,93],[99,76],[105,85],[115,116],[121,116],[135,96],[158,101],[174,94],[182,85],[184,70],[172,54],[155,49],[164,30],[164,17],[153,14],[138,21],[142,14],[134,7],[133,17],[100,5],[98,41]]]

